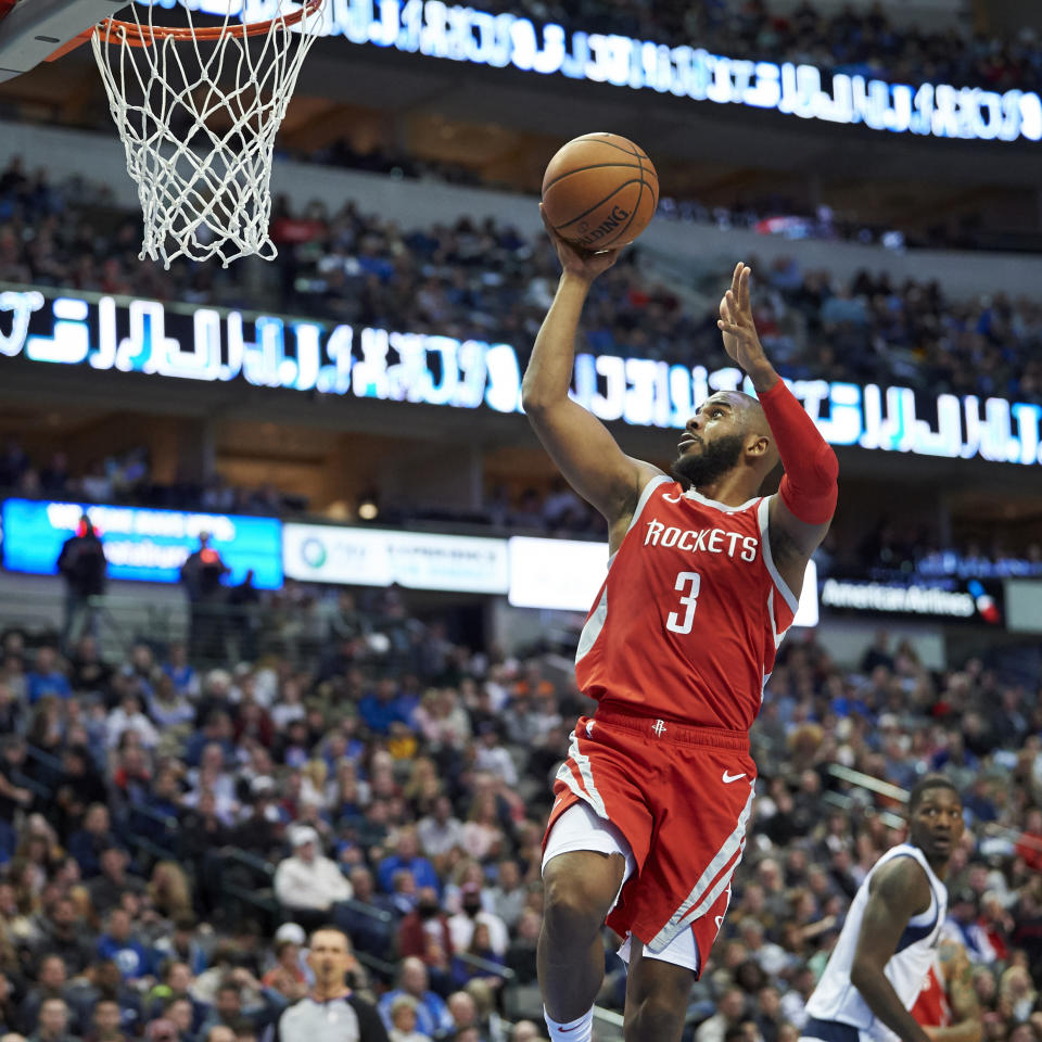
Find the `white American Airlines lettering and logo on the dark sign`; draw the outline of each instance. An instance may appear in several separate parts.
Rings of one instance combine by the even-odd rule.
[[[965,584],[950,582],[874,583],[827,579],[822,584],[823,608],[869,611],[882,614],[965,620],[999,625],[1002,622],[1002,592],[997,584],[976,579]]]

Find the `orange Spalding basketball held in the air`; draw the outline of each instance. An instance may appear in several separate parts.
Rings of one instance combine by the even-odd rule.
[[[653,164],[618,134],[584,134],[569,141],[543,175],[543,208],[550,225],[585,250],[633,242],[658,205]]]

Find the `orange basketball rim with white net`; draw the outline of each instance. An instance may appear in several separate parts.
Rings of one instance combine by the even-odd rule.
[[[144,215],[140,258],[274,259],[268,234],[275,136],[316,39],[322,0],[267,0],[274,17],[157,26],[107,18],[84,34]],[[288,12],[288,8],[295,10]]]

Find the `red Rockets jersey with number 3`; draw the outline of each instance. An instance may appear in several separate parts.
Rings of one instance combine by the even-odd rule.
[[[771,558],[767,507],[648,482],[580,637],[584,694],[641,716],[752,726],[798,607]]]

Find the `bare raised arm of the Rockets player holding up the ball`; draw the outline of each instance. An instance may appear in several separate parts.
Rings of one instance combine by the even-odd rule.
[[[535,433],[568,483],[614,530],[621,522],[628,523],[640,490],[660,471],[626,456],[605,424],[572,402],[568,391],[583,304],[594,279],[615,263],[619,251],[588,253],[561,239],[545,217],[544,224],[563,270],[524,373],[521,401]]]

